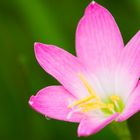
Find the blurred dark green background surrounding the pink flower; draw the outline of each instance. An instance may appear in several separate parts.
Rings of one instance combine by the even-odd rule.
[[[96,0],[115,17],[126,43],[140,28],[140,0]],[[34,42],[61,46],[75,54],[75,29],[90,0],[0,0],[0,139],[118,140],[106,127],[77,138],[77,124],[47,120],[28,100],[39,89],[57,84],[38,65]],[[128,121],[140,140],[140,114]]]

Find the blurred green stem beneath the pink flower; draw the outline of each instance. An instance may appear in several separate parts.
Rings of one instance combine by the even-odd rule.
[[[121,123],[113,122],[110,128],[119,140],[132,140],[126,121]]]

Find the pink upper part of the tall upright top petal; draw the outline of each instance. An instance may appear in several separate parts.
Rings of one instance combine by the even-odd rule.
[[[76,32],[77,55],[81,61],[94,71],[112,68],[123,47],[121,33],[109,11],[96,2],[89,4]]]

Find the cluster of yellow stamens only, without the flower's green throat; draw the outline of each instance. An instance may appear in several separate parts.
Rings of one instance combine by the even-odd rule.
[[[115,113],[114,106],[117,106],[117,102],[120,100],[120,97],[116,95],[110,96],[110,100],[112,103],[104,103],[101,98],[96,95],[92,86],[88,83],[85,77],[80,73],[78,74],[78,76],[87,89],[89,96],[73,102],[68,106],[68,108],[77,106],[77,108],[79,108],[82,112],[88,112],[96,109],[107,109]]]

